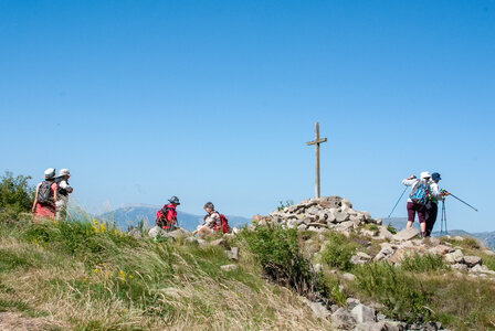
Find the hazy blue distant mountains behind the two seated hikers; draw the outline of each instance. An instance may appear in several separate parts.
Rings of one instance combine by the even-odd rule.
[[[101,214],[98,218],[115,222],[115,224],[122,229],[127,229],[130,226],[137,226],[139,221],[144,221],[145,224],[154,226],[157,217],[157,211],[160,209],[161,206],[127,204],[116,209],[115,211]],[[177,211],[179,226],[188,231],[196,229],[196,227],[202,223],[203,216],[204,215],[194,215],[181,212],[180,207]],[[241,227],[242,225],[251,222],[250,218],[241,216],[225,215],[225,217],[229,220],[229,225],[231,227]]]

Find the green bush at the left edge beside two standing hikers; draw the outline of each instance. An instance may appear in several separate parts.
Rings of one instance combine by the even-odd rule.
[[[17,220],[20,213],[29,213],[33,205],[35,189],[29,184],[31,177],[13,177],[7,171],[0,181],[0,212],[4,218]]]

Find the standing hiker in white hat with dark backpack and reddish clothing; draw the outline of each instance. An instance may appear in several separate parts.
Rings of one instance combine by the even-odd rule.
[[[43,217],[52,220],[55,217],[56,188],[55,169],[49,168],[44,171],[44,181],[36,185],[33,207],[31,209],[35,223]]]

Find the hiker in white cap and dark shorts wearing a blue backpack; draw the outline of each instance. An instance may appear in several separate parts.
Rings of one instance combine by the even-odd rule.
[[[426,218],[425,218],[425,204],[426,196],[430,190],[430,173],[428,171],[421,172],[421,178],[418,179],[414,174],[404,179],[402,184],[406,186],[412,186],[411,194],[408,199],[408,225],[407,227],[412,227],[414,223],[415,214],[418,214],[418,220],[421,227],[421,236],[426,236]]]

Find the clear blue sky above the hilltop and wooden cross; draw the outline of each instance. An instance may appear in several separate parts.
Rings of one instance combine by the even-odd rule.
[[[0,171],[251,216],[314,194],[319,121],[322,194],[386,216],[439,171],[493,231],[494,41],[495,1],[0,0]]]

